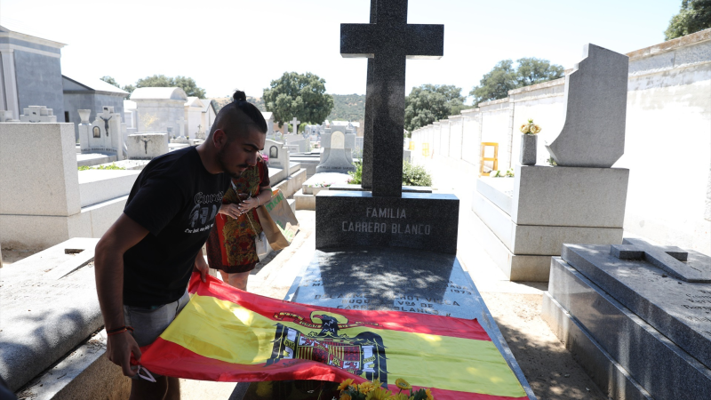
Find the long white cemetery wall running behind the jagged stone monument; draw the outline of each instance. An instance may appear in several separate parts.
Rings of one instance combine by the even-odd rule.
[[[625,155],[614,165],[630,169],[624,228],[711,254],[711,29],[627,56]],[[564,89],[562,78],[463,111],[461,155],[450,147],[434,158],[478,173],[480,143],[491,141],[499,143],[499,169],[513,167],[521,146],[518,127],[533,118],[543,128],[537,164],[545,165],[544,144],[563,128]],[[439,129],[443,124],[446,131]],[[436,149],[456,141],[459,133],[449,125],[441,121],[412,132],[415,158],[424,157],[423,143]]]

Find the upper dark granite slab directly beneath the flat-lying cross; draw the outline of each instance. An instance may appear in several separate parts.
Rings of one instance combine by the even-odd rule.
[[[606,245],[564,244],[562,258],[701,364],[711,367],[711,284],[675,279],[643,260],[619,260]],[[707,271],[711,258],[690,251],[686,265]]]

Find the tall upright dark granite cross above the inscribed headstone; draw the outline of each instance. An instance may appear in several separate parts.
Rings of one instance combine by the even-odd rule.
[[[370,24],[341,24],[343,57],[373,59],[366,96],[371,100],[372,196],[401,196],[403,186],[403,128],[405,60],[439,59],[444,26],[407,23],[407,0],[371,0]],[[373,17],[375,20],[373,21]],[[369,71],[370,72],[370,71]],[[370,79],[372,77],[372,79]]]

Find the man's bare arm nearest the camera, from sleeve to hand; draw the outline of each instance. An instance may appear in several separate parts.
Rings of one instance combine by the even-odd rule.
[[[96,292],[107,331],[124,325],[124,252],[147,235],[148,229],[122,213],[96,244]],[[128,332],[108,338],[108,359],[121,366],[126,376],[135,375],[130,365],[131,353],[140,359],[140,349]]]

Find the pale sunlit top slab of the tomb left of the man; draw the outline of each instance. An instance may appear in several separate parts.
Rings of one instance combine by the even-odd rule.
[[[86,265],[98,241],[70,239],[3,268],[0,375],[12,390],[103,325],[93,267]]]

